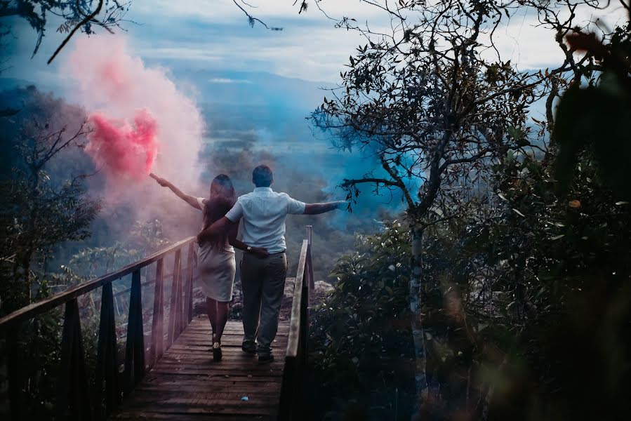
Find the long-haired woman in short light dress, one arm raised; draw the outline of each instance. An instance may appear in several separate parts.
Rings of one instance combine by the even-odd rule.
[[[168,187],[176,196],[199,209],[204,214],[202,229],[210,227],[222,218],[237,201],[232,181],[225,174],[220,174],[211,183],[208,199],[190,196],[164,178],[156,178],[159,185]],[[255,255],[267,255],[265,248],[249,247],[237,240],[237,225],[225,235],[214,236],[199,243],[197,249],[197,269],[201,276],[201,290],[206,295],[206,311],[213,327],[213,360],[220,361],[221,335],[228,321],[232,285],[236,264],[234,247]]]

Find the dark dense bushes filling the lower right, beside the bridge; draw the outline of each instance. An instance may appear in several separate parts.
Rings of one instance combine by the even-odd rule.
[[[491,196],[427,232],[424,326],[431,329],[425,340],[437,356],[427,372],[441,389],[440,401],[426,401],[421,416],[625,419],[631,411],[629,204],[586,152],[572,169],[567,195],[557,192],[554,160],[543,156],[517,154],[492,170]],[[397,272],[393,302],[399,311],[406,307],[409,240],[401,228],[394,232],[364,240],[356,255],[338,262],[338,286],[313,314],[310,358],[324,395],[314,399],[333,410],[333,419],[384,419],[374,406],[387,407],[381,402],[393,396],[392,379],[375,376],[383,361],[371,358],[402,349],[393,337],[376,339],[385,338],[384,325],[401,320],[379,306],[392,299],[380,284],[396,276],[388,269],[396,262],[404,272]],[[427,335],[430,330],[444,334]],[[402,341],[411,334],[407,327],[398,333]]]

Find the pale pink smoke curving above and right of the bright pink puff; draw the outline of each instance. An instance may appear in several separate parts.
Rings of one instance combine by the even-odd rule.
[[[63,71],[69,75],[67,97],[89,114],[131,121],[146,109],[157,122],[160,142],[154,171],[189,185],[197,181],[204,119],[166,69],[147,67],[124,36],[103,34],[77,37]]]

